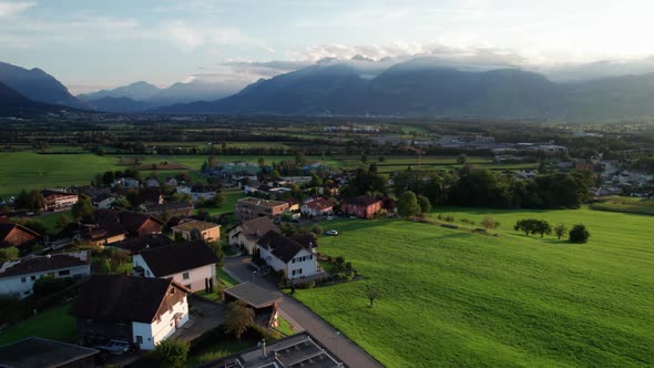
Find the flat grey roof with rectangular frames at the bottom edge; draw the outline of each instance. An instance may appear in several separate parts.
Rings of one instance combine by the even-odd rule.
[[[347,368],[336,355],[307,331],[223,357],[198,368]]]

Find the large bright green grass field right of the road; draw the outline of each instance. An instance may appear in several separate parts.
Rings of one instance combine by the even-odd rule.
[[[654,365],[652,217],[443,213],[456,222],[492,213],[500,236],[398,219],[325,223],[340,234],[319,251],[345,256],[366,279],[296,297],[388,367]],[[583,222],[591,239],[525,237],[512,229],[524,217]],[[367,283],[385,290],[372,308]]]

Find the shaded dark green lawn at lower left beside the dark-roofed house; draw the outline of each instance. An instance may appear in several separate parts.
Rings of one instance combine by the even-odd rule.
[[[75,340],[75,320],[68,314],[70,304],[48,309],[31,318],[19,321],[0,334],[0,345],[7,345],[30,336],[59,341]]]

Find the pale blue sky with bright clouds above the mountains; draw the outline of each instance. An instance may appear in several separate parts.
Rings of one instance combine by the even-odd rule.
[[[646,0],[0,0],[0,61],[73,93],[135,81],[241,88],[325,58],[555,65],[654,55]]]

